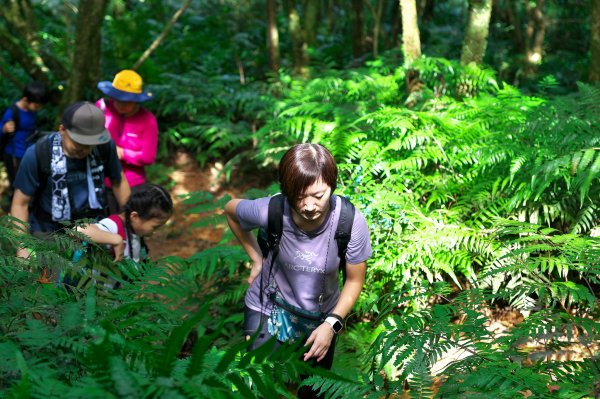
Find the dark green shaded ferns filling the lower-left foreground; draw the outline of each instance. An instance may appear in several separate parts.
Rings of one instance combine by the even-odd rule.
[[[119,289],[105,288],[96,275],[96,284],[79,289],[40,284],[36,276],[48,265],[96,268],[100,254],[73,265],[69,253],[81,248],[73,238],[38,240],[17,233],[6,217],[2,222],[0,390],[9,396],[290,397],[286,384],[306,372],[295,360],[302,348],[244,350],[239,306],[245,289],[235,282],[240,248],[134,268],[120,264],[127,278]],[[21,242],[32,248],[30,260],[14,257],[10,243]],[[191,336],[197,341],[183,356]],[[286,373],[274,372],[282,367]]]

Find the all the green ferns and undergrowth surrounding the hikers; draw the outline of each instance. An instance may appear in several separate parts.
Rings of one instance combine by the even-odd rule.
[[[126,3],[114,2],[104,25],[107,76],[135,62],[143,50],[137,42],[171,10],[169,2],[140,3],[124,12]],[[255,2],[201,3],[141,69],[160,99],[150,106],[161,122],[164,164],[184,148],[199,162],[225,163],[225,173],[272,176],[291,144],[319,142],[339,162],[340,194],[371,227],[368,282],[334,370],[307,383],[330,398],[600,395],[600,88],[577,72],[583,50],[567,53],[551,27],[548,62],[524,80],[527,67],[507,55],[498,20],[491,67],[461,65],[454,61],[460,39],[440,34],[459,28],[435,17],[463,15],[466,3],[453,1],[437,4],[423,24],[429,56],[404,64],[390,39],[389,50],[349,65],[349,28],[340,23],[319,39],[310,77],[302,77],[285,59],[277,73],[268,71]],[[583,18],[561,4],[548,13]],[[56,20],[45,18],[51,36]],[[554,61],[559,56],[577,62]],[[245,65],[243,82],[232,60]],[[153,174],[167,183],[165,171],[158,165]],[[186,199],[192,213],[226,200]],[[73,264],[81,237],[39,240],[10,222],[4,217],[0,226],[3,395],[292,396],[289,383],[306,367],[294,355],[302,348],[245,350],[248,271],[231,234],[188,259],[115,269],[101,250]],[[13,256],[22,242],[35,249],[31,260]],[[39,284],[48,264],[89,278],[69,291]],[[90,264],[110,270],[122,287],[91,284]],[[495,332],[497,309],[524,319]],[[563,356],[571,352],[580,355]]]

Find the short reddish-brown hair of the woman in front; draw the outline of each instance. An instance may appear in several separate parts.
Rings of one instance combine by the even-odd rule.
[[[337,165],[329,150],[320,144],[296,144],[281,158],[279,184],[281,192],[296,202],[306,189],[322,179],[331,187],[337,186]]]

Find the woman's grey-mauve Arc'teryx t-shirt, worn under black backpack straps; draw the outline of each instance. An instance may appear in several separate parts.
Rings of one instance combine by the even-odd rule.
[[[337,304],[339,291],[339,262],[335,230],[340,218],[341,198],[331,196],[331,211],[323,224],[316,230],[300,230],[290,214],[285,200],[283,211],[283,233],[279,254],[271,270],[271,254],[263,262],[261,276],[256,278],[246,292],[246,306],[257,312],[269,314],[271,306],[267,299],[273,290],[273,281],[283,298],[294,306],[305,310],[329,313]],[[236,209],[240,226],[244,230],[266,227],[269,197],[243,200]],[[364,216],[355,212],[346,262],[358,264],[371,257],[369,229]],[[349,266],[347,266],[349,267]],[[269,274],[271,274],[269,281]],[[263,300],[260,300],[261,279]],[[323,305],[319,309],[319,296],[323,294]]]

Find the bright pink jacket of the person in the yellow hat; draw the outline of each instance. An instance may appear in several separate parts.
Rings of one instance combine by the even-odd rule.
[[[158,124],[152,112],[144,107],[132,116],[117,112],[111,100],[100,99],[96,106],[104,111],[105,126],[117,145],[123,148],[121,165],[131,187],[146,181],[145,166],[156,160]]]

